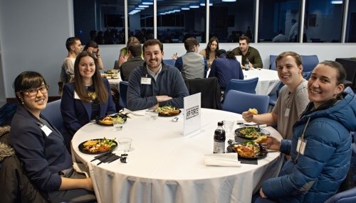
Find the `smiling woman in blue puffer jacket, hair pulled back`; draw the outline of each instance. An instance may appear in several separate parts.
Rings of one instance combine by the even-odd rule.
[[[315,67],[310,104],[294,124],[292,140],[266,142],[291,158],[278,177],[263,182],[255,202],[325,202],[337,192],[350,166],[350,131],[356,131],[356,97],[344,91],[345,77],[338,62]]]

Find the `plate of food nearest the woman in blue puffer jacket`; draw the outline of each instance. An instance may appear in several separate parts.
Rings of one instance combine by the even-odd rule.
[[[267,150],[253,141],[244,141],[244,143],[235,143],[232,150],[241,158],[263,158]]]

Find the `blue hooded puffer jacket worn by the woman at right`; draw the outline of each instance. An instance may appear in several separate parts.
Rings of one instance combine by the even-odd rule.
[[[291,159],[278,177],[263,182],[263,193],[269,198],[288,203],[325,202],[347,175],[350,131],[356,131],[355,94],[343,92],[342,100],[330,101],[316,111],[313,106],[310,102],[293,126],[292,140],[281,143],[281,152],[290,154]],[[304,130],[306,146],[298,155],[298,138]]]

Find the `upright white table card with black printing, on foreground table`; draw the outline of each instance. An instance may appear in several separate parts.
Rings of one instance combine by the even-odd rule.
[[[195,135],[201,131],[201,93],[184,97],[183,136]]]

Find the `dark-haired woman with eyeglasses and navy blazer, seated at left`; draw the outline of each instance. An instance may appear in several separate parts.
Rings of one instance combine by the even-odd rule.
[[[48,101],[45,79],[38,72],[22,72],[14,88],[20,105],[11,122],[9,143],[31,183],[50,202],[95,201],[91,179],[73,170],[62,134],[41,115]]]

